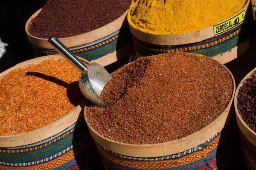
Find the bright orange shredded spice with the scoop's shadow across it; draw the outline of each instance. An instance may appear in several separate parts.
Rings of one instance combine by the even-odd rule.
[[[80,72],[66,59],[15,69],[0,79],[0,136],[39,129],[65,116],[84,99]]]

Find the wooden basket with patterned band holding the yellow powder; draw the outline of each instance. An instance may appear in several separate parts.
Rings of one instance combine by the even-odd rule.
[[[128,11],[128,23],[134,40],[137,57],[183,51],[202,54],[225,64],[236,59],[249,48],[251,34],[251,3],[247,0],[244,8],[235,16],[215,26],[203,28],[186,34],[156,35],[148,34],[131,26],[131,9]],[[244,15],[244,21],[232,29],[217,33],[218,25]]]

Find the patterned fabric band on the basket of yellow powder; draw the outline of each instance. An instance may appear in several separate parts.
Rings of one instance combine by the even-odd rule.
[[[143,42],[133,36],[134,48],[139,57],[151,56],[163,53],[188,52],[214,57],[239,45],[250,35],[250,20],[245,20],[243,24],[237,26],[227,33],[207,40],[185,45],[156,45]],[[241,38],[242,37],[242,38]]]

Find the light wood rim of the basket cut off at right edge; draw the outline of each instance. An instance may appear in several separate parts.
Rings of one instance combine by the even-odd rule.
[[[235,93],[235,99],[234,99],[234,104],[235,104],[235,111],[236,111],[236,121],[237,124],[241,130],[241,132],[244,134],[244,136],[256,147],[256,132],[254,132],[246,123],[243,121],[242,117],[239,114],[238,108],[237,108],[237,94],[239,91],[239,88],[243,85],[244,80],[249,78],[253,71],[256,71],[256,68],[254,68],[250,73],[248,73],[239,83],[236,93]]]

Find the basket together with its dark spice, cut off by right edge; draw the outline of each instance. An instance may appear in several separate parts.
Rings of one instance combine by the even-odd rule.
[[[236,89],[236,120],[239,126],[245,169],[256,169],[256,68],[248,73]]]

